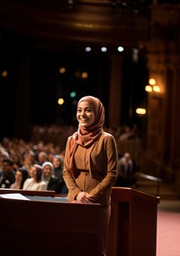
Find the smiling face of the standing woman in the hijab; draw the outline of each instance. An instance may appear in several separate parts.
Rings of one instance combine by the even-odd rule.
[[[89,127],[94,123],[94,109],[88,101],[81,101],[78,104],[76,119],[81,127]]]

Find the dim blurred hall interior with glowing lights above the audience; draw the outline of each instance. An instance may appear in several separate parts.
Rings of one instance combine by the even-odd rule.
[[[178,194],[179,41],[179,1],[0,0],[0,139],[64,147],[94,95],[119,153]]]

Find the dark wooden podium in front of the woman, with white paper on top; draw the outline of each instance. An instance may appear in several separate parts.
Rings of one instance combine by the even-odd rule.
[[[99,255],[100,204],[31,197],[0,198],[2,256]]]

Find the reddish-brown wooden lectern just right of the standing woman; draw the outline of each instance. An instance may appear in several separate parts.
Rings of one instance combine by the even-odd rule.
[[[112,188],[107,256],[155,256],[159,197]]]

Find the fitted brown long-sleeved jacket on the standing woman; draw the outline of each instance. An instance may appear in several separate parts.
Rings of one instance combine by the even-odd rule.
[[[76,177],[69,170],[69,141],[67,139],[66,160],[63,177],[67,184],[70,202],[74,201],[76,195],[85,191],[93,195],[94,203],[110,204],[112,185],[117,177],[117,147],[114,137],[103,132],[91,147],[78,146],[75,153]],[[81,171],[81,170],[86,170]]]

